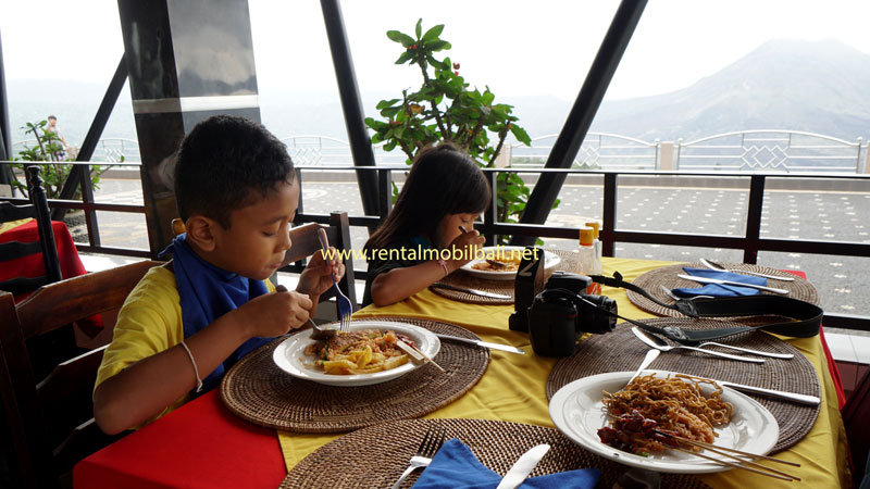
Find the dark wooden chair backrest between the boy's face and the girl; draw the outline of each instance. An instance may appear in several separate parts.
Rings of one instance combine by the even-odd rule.
[[[353,310],[358,309],[357,293],[355,290],[353,275],[353,253],[350,243],[350,222],[347,212],[333,212],[330,214],[330,225],[322,226],[316,223],[306,224],[303,226],[290,229],[290,249],[284,254],[285,262],[297,262],[307,256],[312,255],[321,250],[320,240],[318,240],[318,229],[323,228],[326,230],[326,237],[330,240],[330,246],[335,247],[338,251],[346,251],[345,253],[345,276],[338,283],[338,288],[350,299]],[[327,292],[321,296],[321,301],[334,297],[334,292]]]

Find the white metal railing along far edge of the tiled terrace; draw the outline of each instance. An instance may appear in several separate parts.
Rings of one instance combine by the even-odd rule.
[[[519,142],[505,145],[499,166],[543,166],[558,135],[532,139],[526,147]],[[347,166],[351,164],[347,141],[328,136],[289,136],[281,139],[287,145],[294,162],[299,166]],[[867,155],[870,145],[861,138],[855,142],[799,130],[743,130],[724,133],[683,142],[643,141],[607,133],[589,133],[574,159],[573,167],[580,170],[688,170],[723,172],[840,172],[870,173]],[[12,145],[13,158],[24,146],[33,147],[35,139]],[[401,151],[384,151],[374,146],[377,164],[401,164]],[[90,161],[140,163],[139,143],[134,139],[100,139]]]

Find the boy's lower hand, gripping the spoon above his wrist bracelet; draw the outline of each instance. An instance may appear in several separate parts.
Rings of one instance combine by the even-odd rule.
[[[277,286],[274,293],[252,299],[237,311],[244,311],[251,336],[272,338],[302,326],[308,321],[311,306],[308,296],[288,292],[284,286]]]

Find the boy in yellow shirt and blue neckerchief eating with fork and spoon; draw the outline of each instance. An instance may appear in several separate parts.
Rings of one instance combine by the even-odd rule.
[[[295,292],[266,280],[290,248],[294,177],[285,146],[243,117],[211,117],[182,141],[174,186],[187,233],[119,313],[94,392],[103,431],[140,426],[216,386],[239,358],[304,325],[332,276],[344,275],[314,253]]]

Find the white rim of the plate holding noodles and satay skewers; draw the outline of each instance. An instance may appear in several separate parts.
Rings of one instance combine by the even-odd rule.
[[[659,371],[659,369],[645,369],[644,374],[648,375],[650,373],[656,373],[657,375],[667,375],[667,374],[681,374],[680,372],[672,372],[672,371]],[[594,388],[595,385],[601,384],[602,381],[608,380],[616,380],[618,378],[624,378],[626,381],[631,376],[634,375],[634,372],[606,372],[601,374],[591,375],[587,377],[582,377],[576,380],[573,380],[569,384],[562,386],[556,393],[552,396],[549,402],[548,411],[550,414],[550,419],[556,428],[566,437],[568,437],[573,443],[579,444],[585,450],[588,450],[599,456],[602,456],[607,460],[612,462],[617,462],[623,465],[629,465],[633,467],[646,468],[649,471],[661,472],[661,473],[671,473],[671,474],[710,474],[716,472],[723,472],[729,471],[732,467],[723,464],[718,464],[714,462],[706,462],[703,459],[698,457],[697,463],[685,464],[683,462],[670,462],[670,461],[658,461],[652,457],[645,457],[641,455],[635,455],[633,453],[622,452],[618,449],[609,447],[599,440],[594,440],[594,443],[588,443],[586,439],[581,438],[577,436],[574,430],[572,429],[570,423],[566,419],[562,411],[562,406],[564,405],[566,401],[569,400],[570,396],[575,393],[579,390],[577,386],[582,386],[584,384],[588,384],[588,388]],[[682,374],[687,375],[687,374]],[[595,383],[597,380],[597,384]],[[762,449],[762,453],[760,454],[768,454],[776,444],[776,441],[780,437],[780,425],[776,422],[776,418],[773,417],[773,414],[765,408],[760,402],[756,401],[755,399],[744,394],[743,392],[738,392],[734,389],[730,389],[728,387],[723,387],[723,397],[728,400],[739,399],[741,402],[749,404],[751,408],[757,410],[761,413],[761,416],[767,421],[767,427],[765,428],[765,436],[769,437],[770,440]],[[733,402],[732,402],[733,403]],[[735,410],[737,406],[735,406]],[[775,436],[770,436],[773,431],[771,427],[775,427]]]

